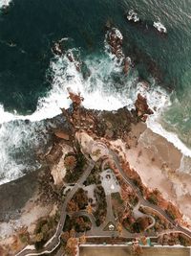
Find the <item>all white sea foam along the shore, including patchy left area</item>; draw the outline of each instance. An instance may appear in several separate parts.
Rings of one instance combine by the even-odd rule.
[[[159,124],[160,112],[163,107],[170,104],[166,92],[157,87],[155,81],[150,82],[150,86],[144,82],[138,82],[136,70],[131,72],[131,76],[122,76],[122,68],[117,65],[116,61],[117,59],[110,58],[109,55],[86,58],[84,62],[90,71],[90,77],[83,79],[82,74],[76,70],[74,62],[67,57],[53,58],[49,70],[53,76],[52,89],[46,97],[39,99],[37,109],[32,115],[21,116],[9,113],[4,110],[3,106],[0,106],[2,124],[0,128],[0,184],[24,175],[26,170],[31,170],[32,166],[38,167],[38,163],[30,163],[30,158],[26,158],[26,155],[22,158],[20,154],[27,149],[26,152],[29,151],[30,155],[30,151],[46,144],[44,125],[36,121],[52,118],[61,113],[60,107],[68,107],[71,104],[71,101],[67,99],[67,87],[81,93],[85,99],[83,102],[85,107],[100,110],[117,110],[125,105],[128,105],[130,109],[140,92],[155,111],[155,114],[147,120],[148,127],[172,142],[185,155],[191,156],[191,151],[181,143],[178,136],[167,132]],[[30,125],[23,121],[27,119],[31,121]],[[40,135],[37,136],[37,134]],[[16,153],[20,155],[20,158]]]

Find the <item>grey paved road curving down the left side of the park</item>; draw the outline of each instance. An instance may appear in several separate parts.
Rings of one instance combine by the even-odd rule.
[[[67,198],[65,198],[61,208],[60,221],[57,224],[57,228],[53,237],[44,245],[44,247],[41,250],[36,251],[35,249],[24,248],[22,251],[17,253],[16,256],[26,256],[26,255],[31,256],[31,255],[42,255],[44,253],[51,253],[60,244],[60,236],[62,233],[64,222],[66,220],[67,204],[74,197],[74,194],[78,190],[78,187],[81,186],[83,182],[86,180],[86,178],[88,177],[88,175],[90,175],[94,166],[95,166],[95,162],[93,160],[90,160],[88,167],[83,173],[83,175],[78,179],[74,188],[67,194]]]

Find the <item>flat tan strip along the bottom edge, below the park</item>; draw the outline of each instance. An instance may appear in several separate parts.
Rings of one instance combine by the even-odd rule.
[[[189,256],[189,248],[143,248],[142,256]],[[131,256],[129,246],[82,246],[79,256]]]

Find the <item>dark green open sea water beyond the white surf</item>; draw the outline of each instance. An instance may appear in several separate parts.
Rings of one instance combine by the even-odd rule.
[[[124,14],[131,9],[138,12],[142,24],[126,20]],[[80,51],[81,58],[92,58],[92,66],[97,65],[97,58],[104,52],[107,20],[124,35],[123,50],[134,60],[138,77],[157,78],[158,85],[171,94],[172,105],[160,121],[190,147],[188,0],[13,0],[8,10],[0,13],[0,104],[11,113],[35,111],[38,99],[46,97],[53,87],[53,78],[48,75],[53,58],[51,47],[60,38],[70,37],[70,46]],[[167,35],[159,35],[153,29],[153,22],[158,20],[166,27]]]

